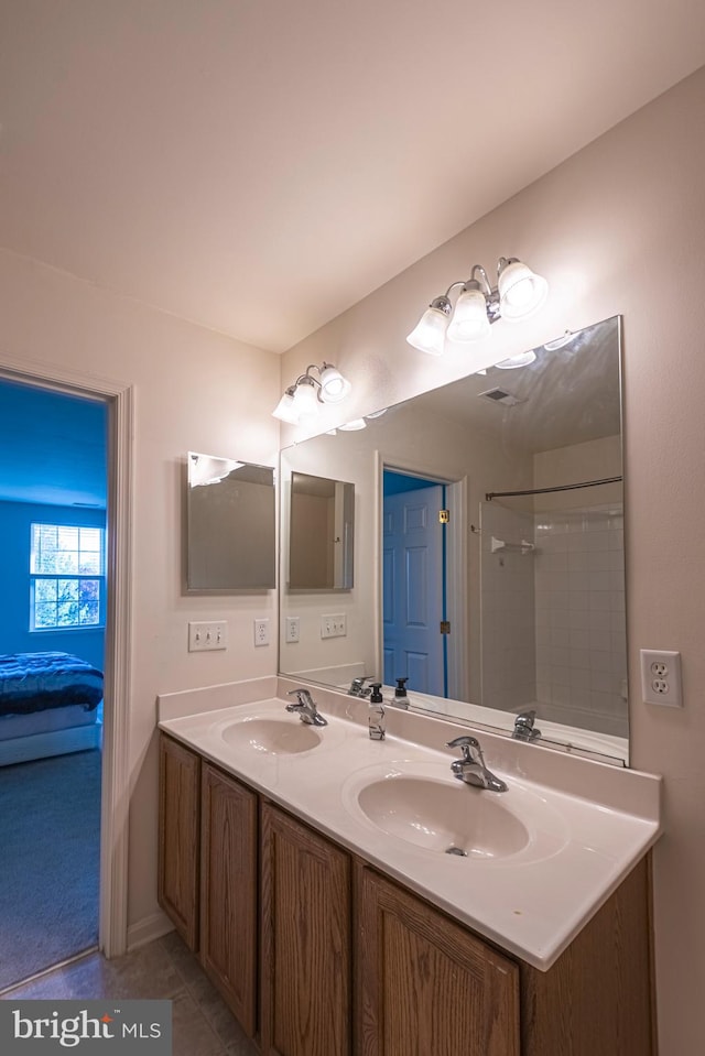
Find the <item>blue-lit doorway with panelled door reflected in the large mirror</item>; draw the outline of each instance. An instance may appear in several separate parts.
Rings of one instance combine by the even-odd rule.
[[[383,681],[447,695],[445,620],[445,486],[394,470],[383,472]]]

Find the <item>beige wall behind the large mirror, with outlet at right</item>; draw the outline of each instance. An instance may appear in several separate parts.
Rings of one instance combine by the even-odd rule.
[[[354,381],[347,416],[406,399],[520,348],[623,316],[632,761],[665,776],[655,851],[661,1056],[697,1053],[705,992],[705,69],[527,187],[286,353]],[[413,173],[410,173],[413,178]],[[404,341],[471,264],[520,257],[551,283],[544,311],[499,323],[471,357]],[[680,650],[685,708],[641,703],[639,649]]]

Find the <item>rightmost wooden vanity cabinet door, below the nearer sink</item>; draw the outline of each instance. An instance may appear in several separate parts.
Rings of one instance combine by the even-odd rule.
[[[359,1056],[519,1056],[519,969],[359,866]]]

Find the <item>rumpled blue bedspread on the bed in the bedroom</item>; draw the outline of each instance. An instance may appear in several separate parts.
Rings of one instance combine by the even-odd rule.
[[[0,655],[0,715],[29,715],[102,700],[102,672],[70,653]]]

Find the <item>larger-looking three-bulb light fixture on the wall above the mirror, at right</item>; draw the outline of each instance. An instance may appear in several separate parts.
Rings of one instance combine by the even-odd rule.
[[[449,294],[455,286],[463,289],[454,309]],[[460,345],[479,341],[497,319],[524,319],[538,312],[547,294],[545,279],[516,257],[499,258],[496,286],[482,265],[474,264],[469,279],[451,283],[431,302],[406,340],[422,352],[441,356],[446,337]]]

